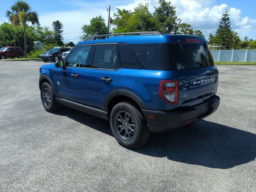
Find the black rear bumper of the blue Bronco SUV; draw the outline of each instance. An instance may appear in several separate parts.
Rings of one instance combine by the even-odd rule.
[[[174,111],[155,111],[142,109],[151,132],[164,132],[201,120],[218,109],[220,98],[212,97],[206,102],[189,108]],[[148,115],[154,115],[148,118]]]

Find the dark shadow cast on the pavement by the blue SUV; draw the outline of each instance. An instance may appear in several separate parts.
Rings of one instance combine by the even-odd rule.
[[[66,107],[55,114],[113,136],[107,120]],[[256,134],[200,120],[173,132],[151,134],[146,144],[132,151],[186,164],[228,169],[255,160]]]

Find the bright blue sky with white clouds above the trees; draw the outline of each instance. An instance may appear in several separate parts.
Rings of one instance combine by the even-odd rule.
[[[9,22],[6,10],[16,0],[0,0],[0,23]],[[90,19],[101,15],[108,22],[116,8],[134,10],[139,3],[148,3],[150,12],[159,6],[158,0],[26,0],[32,10],[38,12],[41,26],[52,29],[52,22],[60,20],[64,26],[64,41],[78,42],[82,36],[82,26],[90,24]],[[201,30],[206,38],[215,34],[223,12],[230,14],[231,28],[240,39],[248,36],[256,39],[256,0],[166,0],[176,7],[176,15],[194,30]]]

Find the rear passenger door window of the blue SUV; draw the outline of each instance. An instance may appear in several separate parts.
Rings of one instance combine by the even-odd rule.
[[[92,68],[117,69],[116,44],[97,45],[94,52]]]

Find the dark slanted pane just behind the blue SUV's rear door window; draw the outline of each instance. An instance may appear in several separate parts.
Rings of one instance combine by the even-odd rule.
[[[134,52],[125,43],[118,44],[119,55],[121,59],[122,68],[129,69],[143,69],[142,64],[135,56]]]

